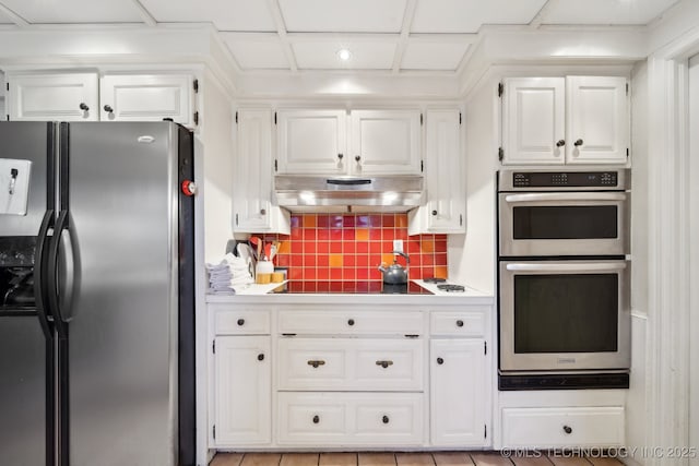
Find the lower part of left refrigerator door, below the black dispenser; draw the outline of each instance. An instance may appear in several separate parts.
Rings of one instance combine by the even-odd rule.
[[[0,464],[46,464],[46,340],[35,316],[0,316]]]

